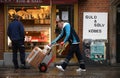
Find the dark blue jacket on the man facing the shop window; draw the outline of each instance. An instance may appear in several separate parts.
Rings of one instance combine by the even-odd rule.
[[[18,20],[12,21],[8,26],[7,35],[12,41],[24,40],[25,33],[23,24]]]

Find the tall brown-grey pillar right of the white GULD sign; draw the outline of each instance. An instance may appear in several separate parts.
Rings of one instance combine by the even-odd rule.
[[[111,65],[116,65],[116,12],[117,6],[120,4],[119,0],[110,0],[111,6],[109,11],[109,52],[110,59],[109,62]]]

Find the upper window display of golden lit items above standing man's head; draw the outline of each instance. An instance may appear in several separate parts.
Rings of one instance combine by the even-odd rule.
[[[27,19],[34,19],[35,21],[39,20],[39,24],[50,24],[50,6],[9,7],[8,9],[9,19],[12,19],[14,14],[21,16],[22,19],[25,20]]]

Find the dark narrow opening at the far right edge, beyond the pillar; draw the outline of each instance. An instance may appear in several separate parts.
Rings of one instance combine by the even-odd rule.
[[[116,60],[120,63],[120,5],[117,8],[117,27],[116,27]]]

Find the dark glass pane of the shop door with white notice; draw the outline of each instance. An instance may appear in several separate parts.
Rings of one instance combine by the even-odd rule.
[[[71,26],[74,26],[73,15],[74,15],[74,10],[73,10],[72,5],[57,5],[56,6],[56,19],[64,20],[66,22],[69,22]],[[56,36],[58,36],[60,31],[61,30],[56,25]],[[66,48],[64,51],[61,51],[61,53],[59,52],[57,53],[58,57],[64,57],[67,55],[69,44],[66,44],[65,47]],[[57,49],[60,49],[60,47],[58,47]]]

